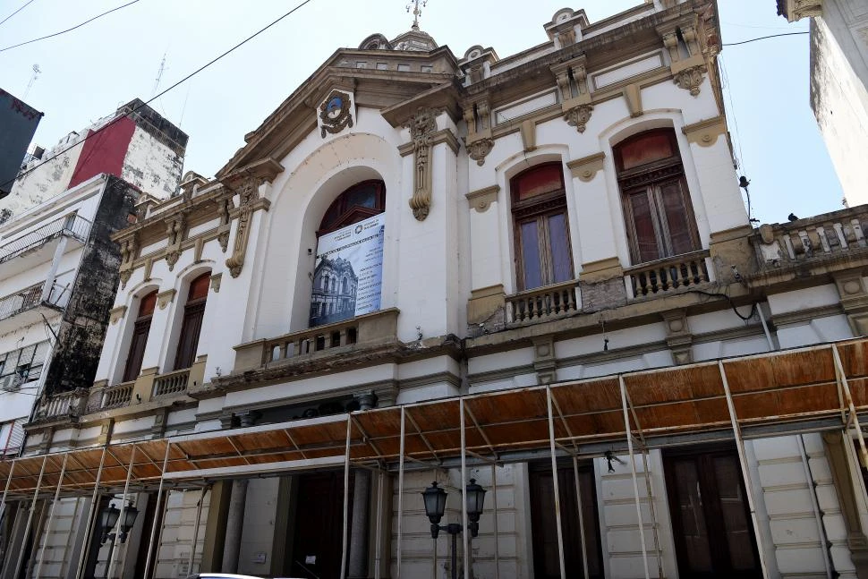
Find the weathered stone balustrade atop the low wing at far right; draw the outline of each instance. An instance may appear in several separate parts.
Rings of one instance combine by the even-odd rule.
[[[810,260],[843,256],[868,247],[864,205],[791,223],[763,225],[753,235],[760,267],[780,268]]]

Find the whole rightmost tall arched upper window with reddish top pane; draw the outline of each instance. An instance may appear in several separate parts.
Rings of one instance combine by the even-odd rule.
[[[655,129],[615,148],[633,263],[700,249],[684,166],[672,129]]]

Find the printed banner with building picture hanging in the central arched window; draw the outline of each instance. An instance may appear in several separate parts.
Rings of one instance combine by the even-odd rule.
[[[379,310],[385,223],[380,213],[319,238],[311,328]]]

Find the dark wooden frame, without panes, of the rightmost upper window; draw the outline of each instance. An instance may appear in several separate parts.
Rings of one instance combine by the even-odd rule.
[[[655,136],[666,136],[669,147],[673,154],[666,158],[655,158],[637,166],[624,168],[623,150],[626,146],[636,141],[646,140]],[[684,161],[678,147],[676,133],[672,128],[651,129],[639,132],[625,140],[620,141],[613,148],[617,171],[618,190],[620,192],[621,208],[624,214],[627,242],[629,244],[630,259],[633,265],[650,263],[656,260],[665,260],[677,255],[683,255],[692,251],[700,251],[702,243],[696,226],[693,200],[690,197],[690,189],[684,170]],[[678,187],[681,206],[679,211],[685,220],[686,231],[678,231],[686,234],[690,249],[677,251],[673,244],[672,226],[669,225],[669,217],[663,188],[672,184]],[[636,227],[634,214],[634,199],[644,196],[648,203],[648,214],[651,218],[651,226],[654,231],[656,257],[646,259],[642,257],[643,250],[639,245],[639,233]]]

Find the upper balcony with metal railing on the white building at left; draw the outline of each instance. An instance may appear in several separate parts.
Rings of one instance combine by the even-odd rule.
[[[90,226],[87,219],[72,213],[12,240],[0,241],[0,271],[3,277],[13,277],[51,261],[57,246],[64,240],[65,251],[81,247],[87,242]]]

